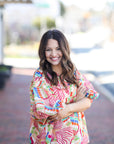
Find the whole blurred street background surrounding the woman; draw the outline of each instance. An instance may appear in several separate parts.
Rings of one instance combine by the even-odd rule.
[[[91,144],[114,143],[114,0],[0,0],[0,143],[29,143],[29,87],[48,29],[100,93],[87,110]]]

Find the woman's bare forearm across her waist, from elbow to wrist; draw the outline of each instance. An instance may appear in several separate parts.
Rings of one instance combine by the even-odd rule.
[[[87,110],[90,106],[91,106],[90,99],[84,97],[75,103],[68,104],[67,108],[69,110],[69,113],[74,113],[74,112],[83,112]]]

